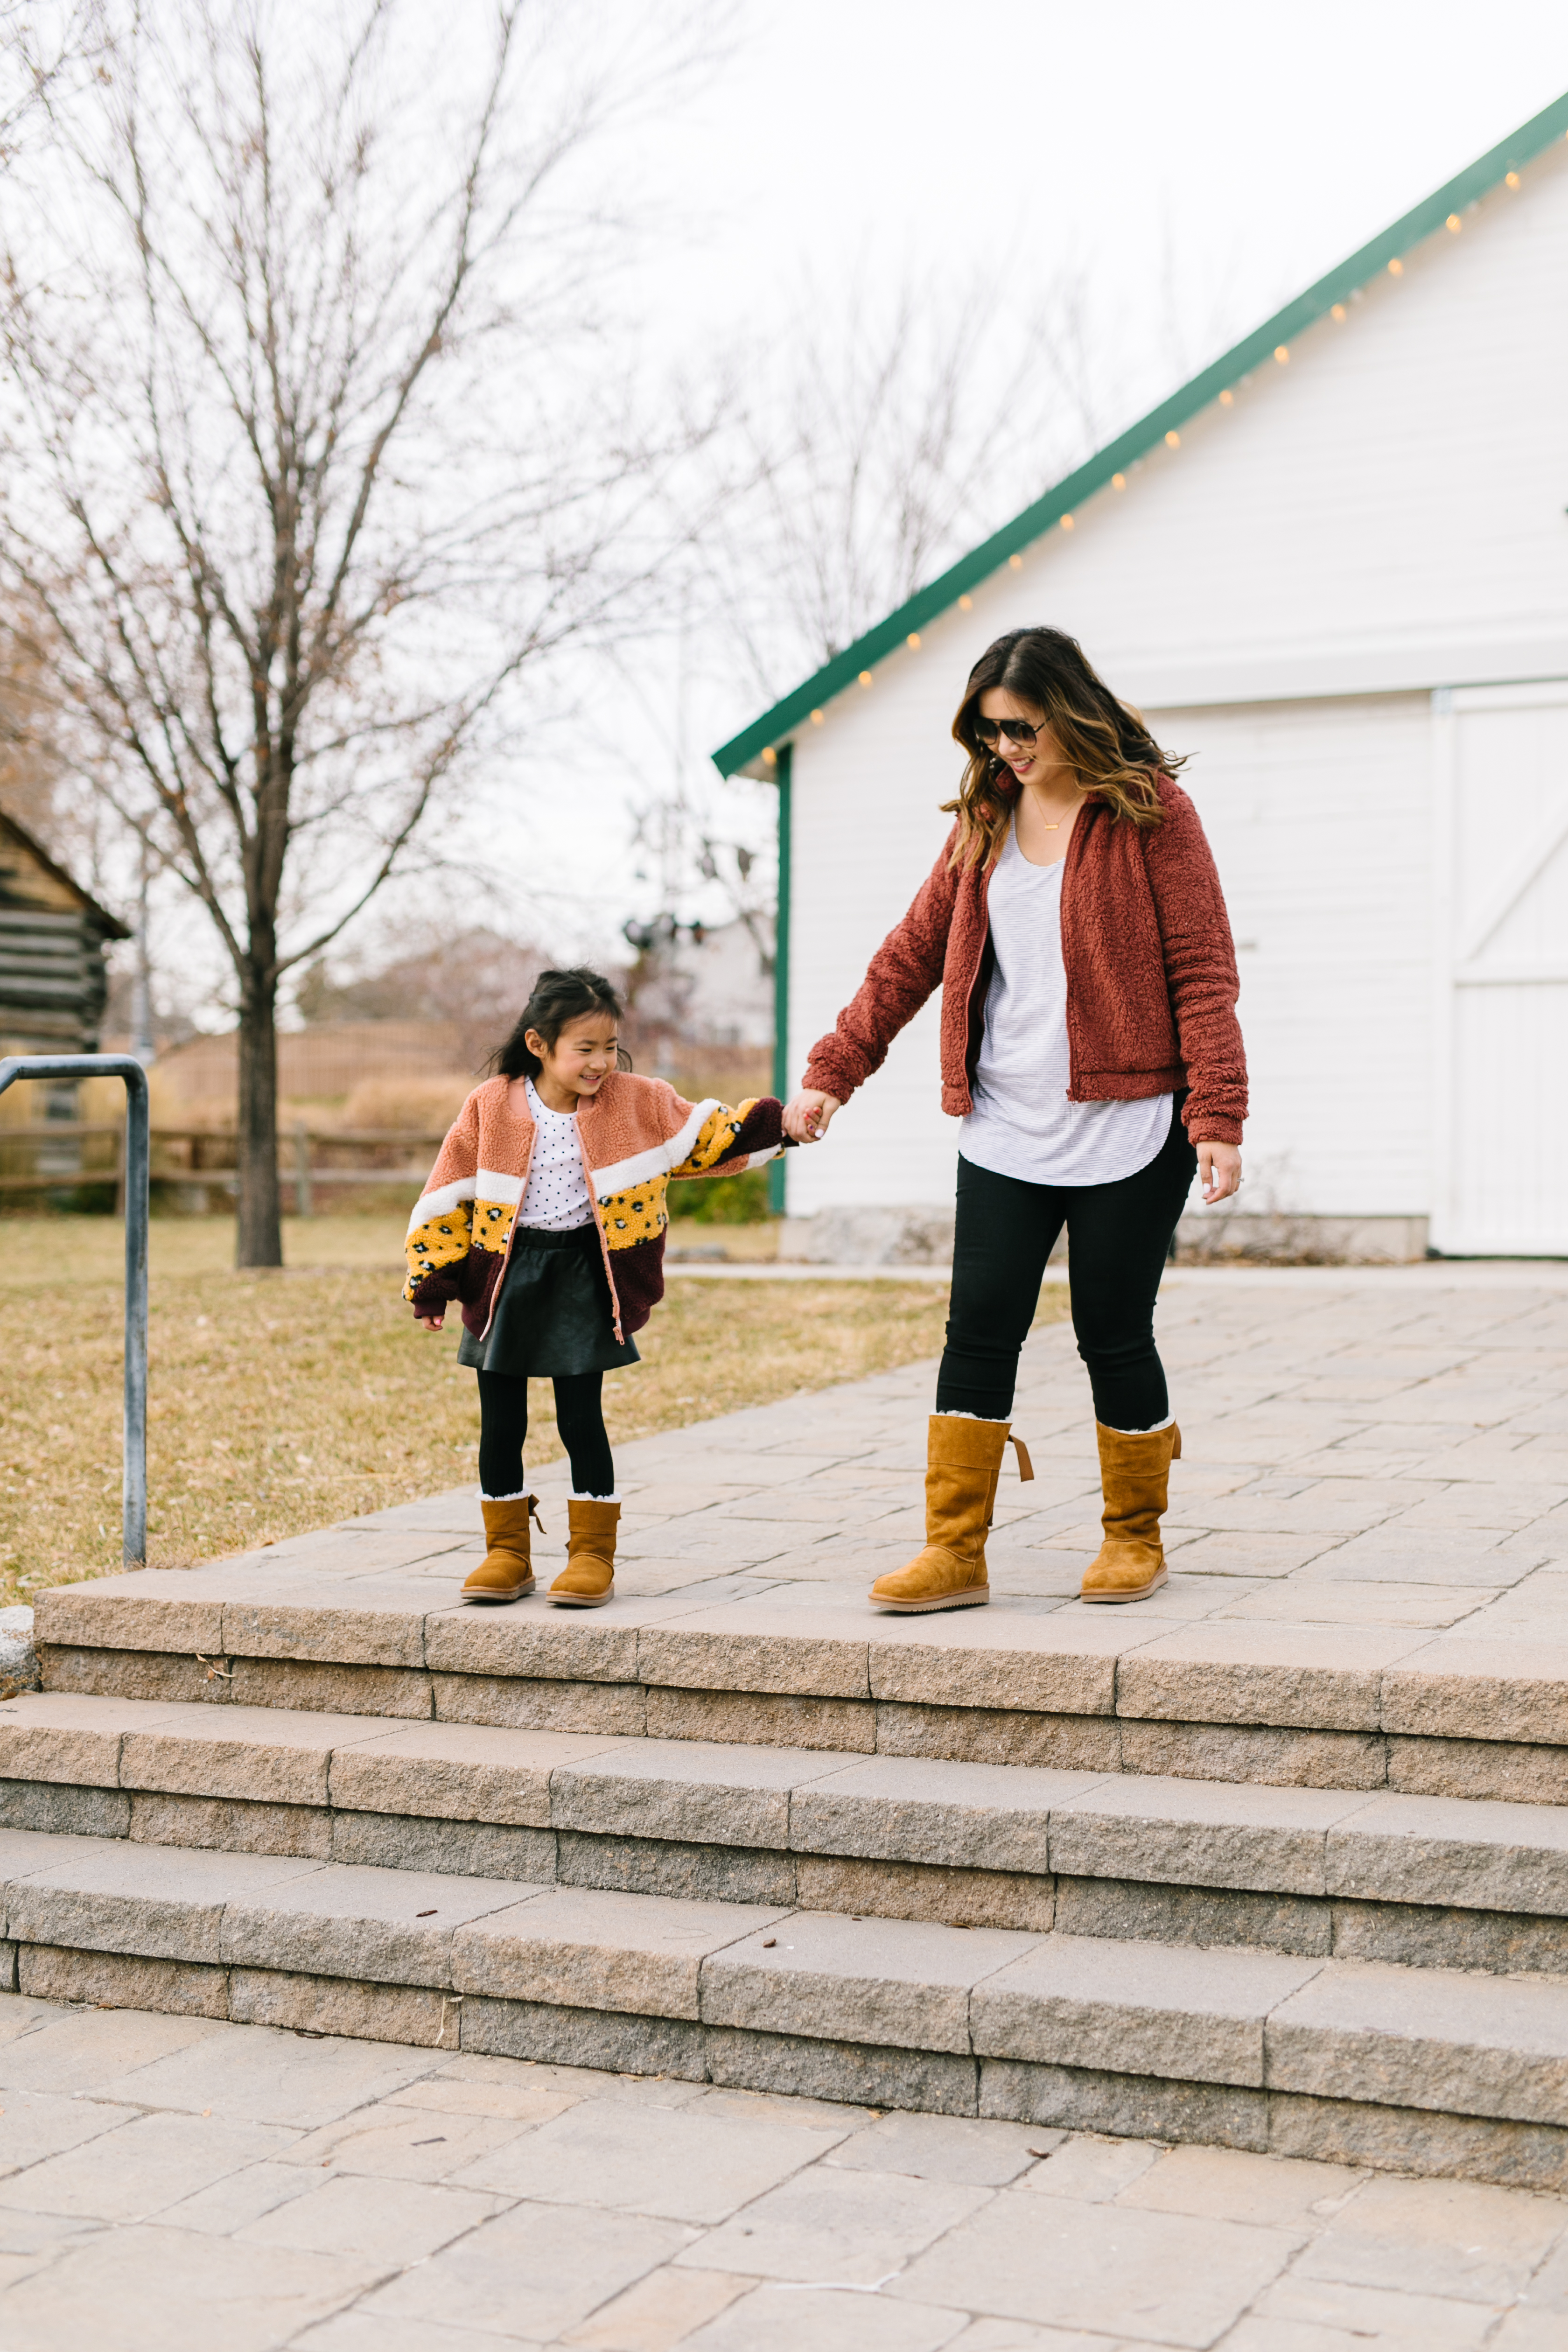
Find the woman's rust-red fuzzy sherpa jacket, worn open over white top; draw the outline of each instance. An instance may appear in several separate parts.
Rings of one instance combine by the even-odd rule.
[[[1199,811],[1159,779],[1164,823],[1112,818],[1086,800],[1063,873],[1063,964],[1074,1103],[1126,1103],[1187,1087],[1194,1143],[1239,1143],[1246,1054],[1237,1023],[1237,955]],[[818,1037],[806,1087],[846,1103],[933,988],[943,990],[943,1110],[964,1117],[994,969],[985,898],[990,868],[957,870],[954,830],[914,906],[870,960],[837,1028]]]

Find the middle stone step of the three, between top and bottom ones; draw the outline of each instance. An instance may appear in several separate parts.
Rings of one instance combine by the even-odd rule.
[[[1568,1813],[26,1693],[0,1820],[952,1926],[1568,1973]]]

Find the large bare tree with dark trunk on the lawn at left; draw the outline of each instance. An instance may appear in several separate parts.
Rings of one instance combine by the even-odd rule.
[[[284,974],[409,870],[517,691],[628,626],[668,555],[686,437],[639,433],[592,343],[623,252],[595,165],[715,19],[89,19],[75,66],[0,19],[49,134],[0,191],[0,595],[73,774],[216,929],[237,1263],[275,1265]]]

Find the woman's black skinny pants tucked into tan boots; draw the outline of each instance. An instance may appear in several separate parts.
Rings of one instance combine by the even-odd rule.
[[[1180,1098],[1154,1160],[1117,1183],[1023,1183],[959,1160],[938,1414],[1009,1418],[1018,1350],[1065,1225],[1072,1329],[1088,1364],[1095,1418],[1110,1430],[1150,1430],[1166,1421],[1171,1397],[1154,1348],[1154,1296],[1194,1169]]]

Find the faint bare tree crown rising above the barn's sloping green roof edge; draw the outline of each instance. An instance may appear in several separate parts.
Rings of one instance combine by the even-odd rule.
[[[733,684],[769,696],[1084,456],[1117,369],[1086,273],[1060,268],[806,287],[736,374],[705,635]]]

